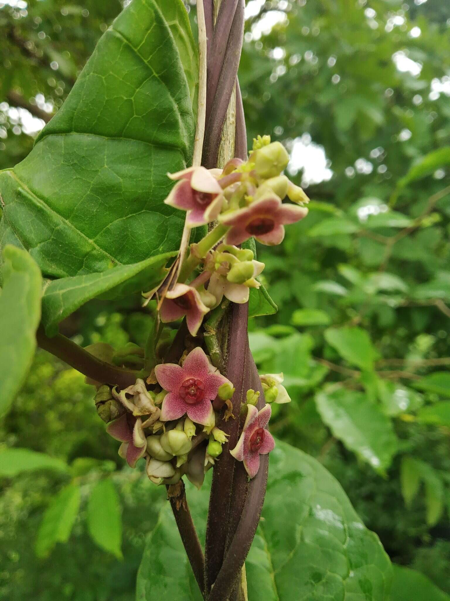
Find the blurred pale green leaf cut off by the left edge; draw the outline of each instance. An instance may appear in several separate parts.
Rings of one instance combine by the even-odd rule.
[[[27,252],[5,246],[0,291],[0,417],[31,367],[41,316],[41,274]]]

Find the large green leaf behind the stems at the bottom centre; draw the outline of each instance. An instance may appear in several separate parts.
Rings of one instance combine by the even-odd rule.
[[[188,487],[203,539],[209,490]],[[262,520],[245,563],[248,598],[266,601],[385,601],[391,564],[373,532],[320,463],[277,441]],[[149,534],[136,601],[200,601],[170,507]]]

